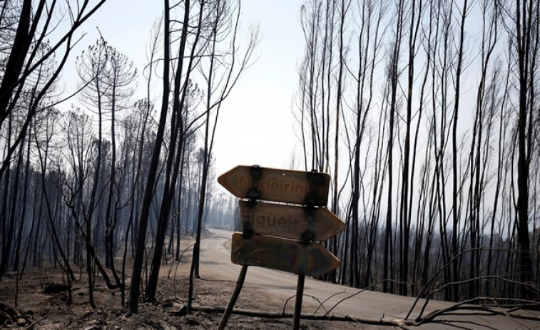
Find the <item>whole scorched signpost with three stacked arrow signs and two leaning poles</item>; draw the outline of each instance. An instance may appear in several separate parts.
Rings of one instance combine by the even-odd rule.
[[[340,265],[334,254],[315,243],[345,229],[345,223],[326,207],[330,176],[254,165],[237,166],[218,177],[218,182],[243,199],[239,201],[243,232],[233,234],[231,252],[231,261],[242,265],[242,270],[218,330],[225,329],[248,266],[298,274],[292,325],[297,330],[305,275],[317,277]]]

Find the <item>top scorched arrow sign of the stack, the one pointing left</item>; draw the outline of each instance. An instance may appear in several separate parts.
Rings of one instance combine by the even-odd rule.
[[[218,182],[240,198],[326,206],[330,176],[240,165],[218,177]]]

